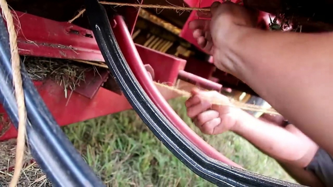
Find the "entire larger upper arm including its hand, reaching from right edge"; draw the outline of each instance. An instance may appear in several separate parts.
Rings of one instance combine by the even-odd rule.
[[[217,68],[248,84],[333,156],[333,32],[263,31],[255,28],[256,16],[215,2],[204,16],[211,20],[192,21],[190,28]]]

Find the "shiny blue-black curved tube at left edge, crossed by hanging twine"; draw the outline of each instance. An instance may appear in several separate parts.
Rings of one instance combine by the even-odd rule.
[[[0,15],[0,102],[17,128],[17,104],[8,44],[8,32]],[[104,186],[53,119],[23,63],[21,74],[28,115],[27,139],[34,159],[51,183],[61,187]]]

